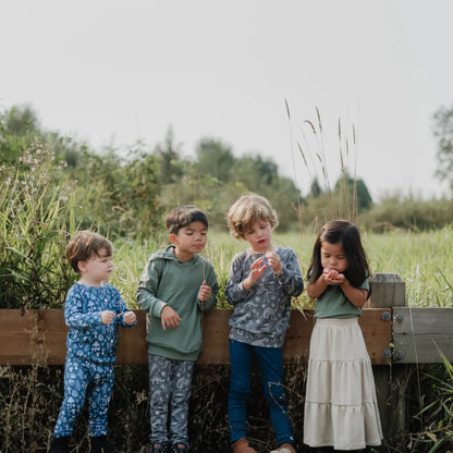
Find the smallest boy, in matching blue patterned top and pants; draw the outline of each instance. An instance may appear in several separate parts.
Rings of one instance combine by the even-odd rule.
[[[75,235],[66,247],[71,267],[81,279],[69,291],[64,319],[68,354],[64,365],[64,399],[53,431],[51,453],[69,452],[75,419],[85,396],[89,402],[91,453],[112,453],[107,442],[107,411],[113,388],[118,326],[136,323],[120,292],[105,283],[112,270],[112,244],[89,231]]]

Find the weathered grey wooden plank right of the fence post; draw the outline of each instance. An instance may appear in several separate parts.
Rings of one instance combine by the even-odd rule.
[[[402,364],[453,362],[453,308],[393,308],[393,360]]]

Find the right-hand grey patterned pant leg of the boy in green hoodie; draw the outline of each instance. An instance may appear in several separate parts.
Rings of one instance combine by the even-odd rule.
[[[170,400],[170,440],[188,446],[187,417],[195,362],[173,360]]]

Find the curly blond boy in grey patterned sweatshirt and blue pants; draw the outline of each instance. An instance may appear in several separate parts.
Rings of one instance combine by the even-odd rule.
[[[234,306],[230,317],[231,380],[228,415],[233,453],[257,453],[247,441],[247,396],[255,358],[277,436],[270,453],[295,453],[283,389],[282,346],[291,315],[291,298],[304,290],[296,254],[272,243],[277,212],[259,195],[244,195],[230,208],[234,237],[249,247],[233,257],[225,287]]]

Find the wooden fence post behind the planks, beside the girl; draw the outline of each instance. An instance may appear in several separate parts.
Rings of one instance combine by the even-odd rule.
[[[406,303],[406,283],[396,273],[376,273],[371,279],[374,308],[402,307]],[[392,314],[393,317],[393,314]],[[392,322],[392,319],[390,320]],[[389,350],[387,353],[391,353]],[[384,439],[405,431],[405,391],[408,372],[405,365],[374,366],[376,393]]]

